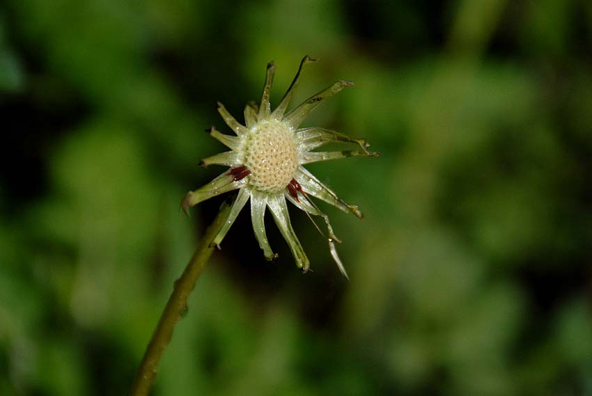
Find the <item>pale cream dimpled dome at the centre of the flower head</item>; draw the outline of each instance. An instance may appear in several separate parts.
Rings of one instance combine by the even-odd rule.
[[[244,165],[251,171],[249,185],[265,192],[285,189],[298,166],[294,132],[281,121],[262,121],[249,132]]]

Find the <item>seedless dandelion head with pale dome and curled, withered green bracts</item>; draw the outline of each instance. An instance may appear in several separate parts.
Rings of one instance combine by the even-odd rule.
[[[338,198],[329,187],[314,177],[303,165],[355,155],[376,156],[377,153],[368,151],[370,145],[365,139],[351,138],[324,128],[298,129],[304,118],[320,102],[335,95],[343,88],[352,86],[353,83],[350,81],[337,81],[286,113],[303,66],[313,61],[316,60],[304,56],[290,88],[274,111],[271,111],[270,108],[270,88],[275,66],[273,63],[269,63],[260,106],[251,102],[244,109],[246,126],[237,122],[224,106],[218,103],[220,115],[228,127],[233,129],[236,136],[221,134],[212,127],[210,134],[231,150],[203,159],[202,164],[205,166],[210,164],[230,166],[230,169],[212,182],[205,184],[201,189],[189,191],[183,198],[181,207],[189,215],[188,207],[221,193],[239,189],[228,220],[215,237],[214,243],[221,242],[242,207],[251,198],[251,219],[255,237],[260,248],[263,249],[265,258],[272,260],[277,257],[265,235],[263,216],[265,209],[269,207],[281,234],[290,245],[297,267],[302,269],[302,272],[306,272],[309,270],[310,262],[290,223],[288,206],[286,205],[286,199],[288,199],[296,207],[306,212],[309,217],[312,214],[313,216],[321,216],[325,220],[329,251],[341,273],[347,277],[334,244],[335,242],[341,243],[341,241],[335,236],[331,223],[329,223],[329,217],[318,209],[310,196],[324,200],[344,212],[351,212],[360,219],[363,215],[356,205],[349,205]],[[312,151],[325,143],[334,142],[357,143],[361,151]]]

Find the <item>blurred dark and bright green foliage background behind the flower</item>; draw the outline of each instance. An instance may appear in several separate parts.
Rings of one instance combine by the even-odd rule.
[[[592,3],[5,0],[0,395],[125,395],[224,198],[179,202],[277,66],[277,104],[380,158],[309,166],[350,273],[291,208],[313,273],[245,210],[154,395],[592,395]],[[294,210],[293,210],[294,209]],[[270,216],[266,216],[270,221]]]

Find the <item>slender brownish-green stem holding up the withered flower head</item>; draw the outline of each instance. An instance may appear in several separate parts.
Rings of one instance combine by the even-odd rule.
[[[187,297],[189,297],[197,279],[208,264],[208,260],[214,250],[212,241],[224,224],[224,221],[228,219],[229,212],[230,205],[227,203],[222,205],[218,216],[216,216],[216,219],[205,231],[201,244],[196,248],[193,257],[189,260],[187,267],[185,267],[185,271],[175,281],[173,294],[169,297],[169,302],[166,303],[166,307],[158,321],[152,339],[148,347],[146,347],[146,353],[142,358],[136,379],[134,379],[132,396],[147,396],[150,393],[162,353],[171,341],[177,322],[187,312]]]

